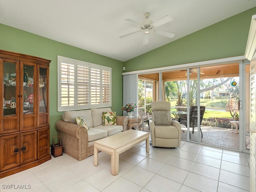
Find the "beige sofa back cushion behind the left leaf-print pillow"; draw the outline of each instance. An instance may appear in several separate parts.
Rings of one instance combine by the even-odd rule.
[[[93,126],[91,110],[65,111],[63,116],[62,116],[62,120],[75,124],[76,123],[75,118],[79,117],[79,116],[81,116],[84,119],[88,128],[91,128]]]

